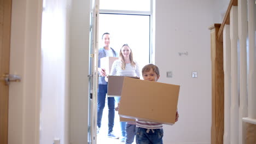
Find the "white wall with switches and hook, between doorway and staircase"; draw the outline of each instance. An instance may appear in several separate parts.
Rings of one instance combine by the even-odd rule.
[[[159,82],[181,85],[179,121],[165,125],[164,143],[211,142],[211,0],[156,1],[155,64]],[[188,55],[179,56],[179,52]],[[167,78],[166,71],[173,77]],[[191,72],[197,71],[197,78]]]

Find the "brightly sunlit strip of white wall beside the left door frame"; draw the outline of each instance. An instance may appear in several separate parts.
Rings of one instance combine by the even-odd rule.
[[[69,143],[69,0],[44,0],[40,143]]]

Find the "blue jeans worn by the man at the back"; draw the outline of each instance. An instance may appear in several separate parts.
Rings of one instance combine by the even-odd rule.
[[[108,92],[108,85],[98,85],[98,106],[97,106],[97,126],[101,127],[101,119],[103,109],[105,107],[106,94]],[[113,131],[115,118],[115,99],[108,97],[108,133]]]

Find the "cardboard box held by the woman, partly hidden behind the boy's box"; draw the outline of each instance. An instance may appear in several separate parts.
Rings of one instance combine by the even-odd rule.
[[[108,97],[121,97],[124,77],[125,76],[108,76]],[[139,77],[132,78],[139,79]]]

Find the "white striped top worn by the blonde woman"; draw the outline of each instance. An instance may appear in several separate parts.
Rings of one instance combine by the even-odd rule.
[[[121,69],[121,61],[120,59],[117,59],[114,61],[109,75],[139,77],[141,76],[139,73],[139,66],[137,62],[135,62],[135,64],[136,65],[132,66],[131,63],[126,63],[125,69]]]

